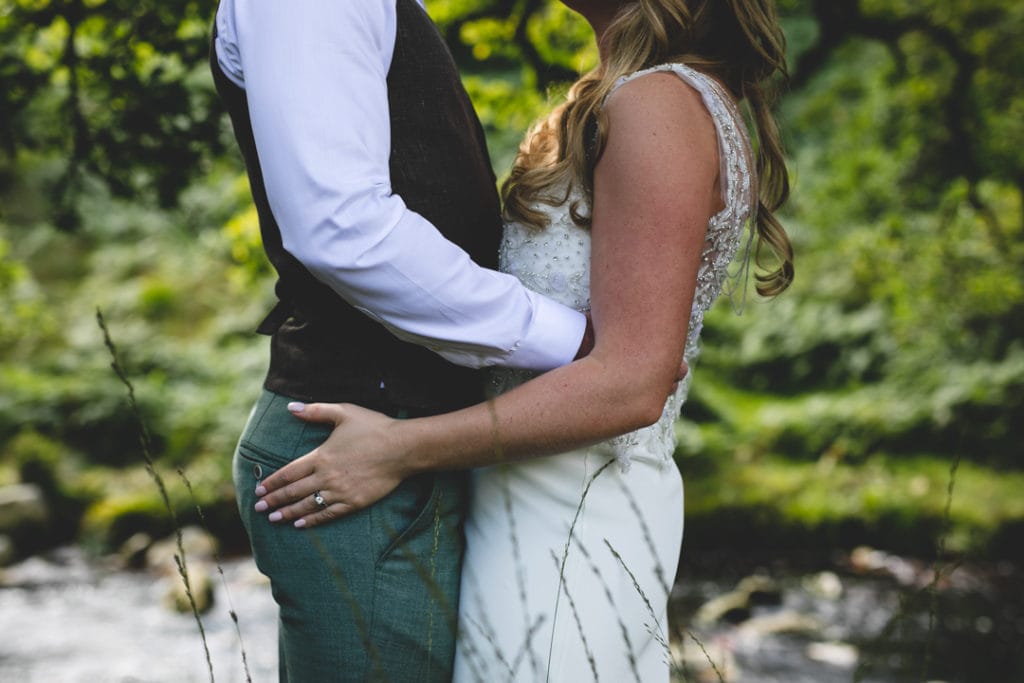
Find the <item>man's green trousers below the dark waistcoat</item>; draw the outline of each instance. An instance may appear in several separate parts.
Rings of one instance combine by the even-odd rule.
[[[466,481],[418,475],[374,506],[310,529],[272,524],[254,489],[321,444],[264,391],[234,454],[239,510],[280,606],[281,681],[451,681]]]

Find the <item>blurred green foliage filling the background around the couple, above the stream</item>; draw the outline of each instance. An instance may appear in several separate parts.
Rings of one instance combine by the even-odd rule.
[[[547,0],[427,6],[501,177],[529,123],[596,62],[590,29]],[[779,6],[797,283],[772,302],[751,294],[741,316],[723,302],[708,317],[680,450],[702,520],[688,528],[781,541],[777,523],[791,540],[927,552],[962,454],[953,545],[1012,554],[1024,518],[1011,493],[1024,466],[1024,5]],[[85,527],[104,543],[159,531],[166,513],[95,308],[160,466],[187,467],[221,520],[264,372],[252,330],[272,272],[207,72],[213,9],[0,0],[0,480],[50,477],[91,506]],[[187,497],[174,501],[187,518]]]

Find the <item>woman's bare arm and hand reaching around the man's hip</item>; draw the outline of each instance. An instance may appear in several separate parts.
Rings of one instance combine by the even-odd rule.
[[[699,95],[673,74],[631,81],[606,111],[594,177],[590,355],[431,418],[304,407],[299,417],[337,429],[263,481],[258,507],[275,509],[272,521],[311,526],[420,471],[561,453],[657,421],[677,379],[708,220],[721,206],[718,140]],[[316,490],[328,508],[317,510]]]

